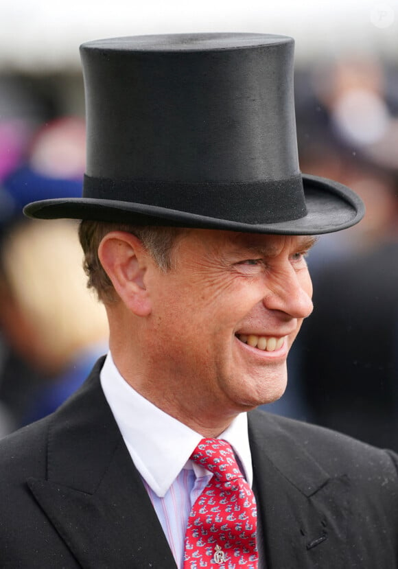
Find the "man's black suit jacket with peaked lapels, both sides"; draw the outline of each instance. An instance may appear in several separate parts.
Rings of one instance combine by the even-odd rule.
[[[176,567],[101,365],[54,415],[0,441],[2,569]],[[394,454],[261,411],[249,436],[268,569],[398,566]]]

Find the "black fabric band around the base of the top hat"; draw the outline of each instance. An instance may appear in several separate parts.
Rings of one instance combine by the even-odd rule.
[[[83,198],[162,207],[248,224],[305,217],[301,174],[277,181],[165,182],[84,176]]]

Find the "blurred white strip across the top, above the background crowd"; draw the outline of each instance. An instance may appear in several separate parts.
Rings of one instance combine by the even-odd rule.
[[[397,61],[398,0],[0,0],[0,70],[79,69],[86,40],[183,32],[290,35],[297,61]]]

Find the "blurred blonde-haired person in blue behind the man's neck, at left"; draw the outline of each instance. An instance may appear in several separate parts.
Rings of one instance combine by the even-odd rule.
[[[28,386],[21,422],[29,423],[56,410],[80,386],[106,351],[108,327],[104,308],[86,289],[75,224],[19,224],[2,244],[0,264],[3,334],[42,377]]]

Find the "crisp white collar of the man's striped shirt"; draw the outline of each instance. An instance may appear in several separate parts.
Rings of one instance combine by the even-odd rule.
[[[191,463],[189,456],[203,438],[202,435],[137,393],[121,377],[110,352],[102,367],[100,380],[134,465],[156,495],[165,496],[180,471]],[[238,415],[219,438],[231,444],[251,486],[253,468],[246,413]],[[194,469],[198,475],[197,469]]]

